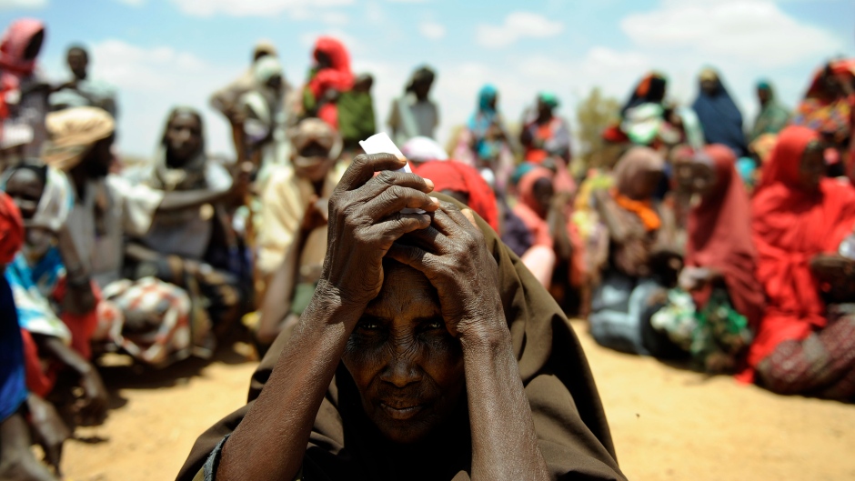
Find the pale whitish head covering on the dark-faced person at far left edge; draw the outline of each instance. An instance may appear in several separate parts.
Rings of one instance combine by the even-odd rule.
[[[5,192],[9,179],[22,167],[24,165],[15,165],[6,169],[0,177],[0,190]],[[53,167],[47,165],[29,165],[29,167],[45,169],[45,190],[42,191],[42,198],[39,199],[35,215],[28,221],[28,225],[45,227],[56,232],[65,224],[68,213],[75,206],[71,184],[62,171]]]

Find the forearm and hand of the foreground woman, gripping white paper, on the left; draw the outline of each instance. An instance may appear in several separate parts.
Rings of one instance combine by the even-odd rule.
[[[327,386],[357,321],[383,286],[382,260],[400,235],[428,226],[433,189],[397,172],[395,155],[358,155],[330,199],[324,270],[265,389],[228,438],[219,481],[293,479]]]

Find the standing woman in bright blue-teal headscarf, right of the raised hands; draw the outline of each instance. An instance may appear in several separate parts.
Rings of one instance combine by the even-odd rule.
[[[509,139],[498,113],[498,90],[484,85],[478,92],[478,107],[458,136],[453,157],[474,166],[492,187],[504,191],[514,165]]]

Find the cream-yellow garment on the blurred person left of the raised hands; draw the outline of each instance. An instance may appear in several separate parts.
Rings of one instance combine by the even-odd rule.
[[[338,163],[330,169],[321,197],[329,198],[347,166]],[[261,222],[258,226],[257,268],[262,275],[273,274],[285,259],[288,246],[297,238],[303,215],[315,194],[312,183],[298,177],[290,165],[283,166],[270,176],[262,193]],[[300,274],[311,276],[324,264],[327,253],[327,226],[318,227],[309,234],[300,255]],[[316,269],[317,267],[317,269]]]

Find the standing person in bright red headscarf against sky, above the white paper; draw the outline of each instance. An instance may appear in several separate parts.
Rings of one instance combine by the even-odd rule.
[[[338,95],[353,88],[350,55],[345,45],[330,36],[315,42],[315,66],[303,90],[303,107],[308,116],[317,116],[338,129]]]

